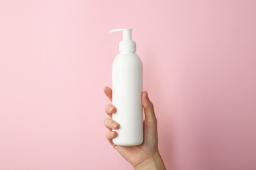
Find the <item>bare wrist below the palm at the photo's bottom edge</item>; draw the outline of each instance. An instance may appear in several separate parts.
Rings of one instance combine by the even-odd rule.
[[[165,170],[165,165],[161,159],[160,153],[154,154],[154,156],[142,161],[142,163],[135,166],[136,170]]]

